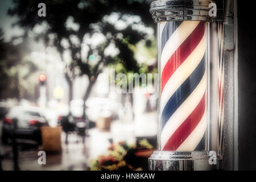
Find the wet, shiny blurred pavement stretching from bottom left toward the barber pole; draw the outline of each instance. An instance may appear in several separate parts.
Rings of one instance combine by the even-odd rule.
[[[138,117],[134,123],[113,122],[110,131],[97,128],[87,131],[85,143],[77,134],[69,134],[68,144],[65,144],[65,133],[61,133],[61,152],[46,152],[46,165],[38,164],[38,152],[42,148],[34,144],[19,144],[18,166],[22,171],[84,171],[88,170],[92,159],[107,153],[110,141],[120,140],[134,142],[135,135],[155,135],[155,114]],[[140,121],[140,122],[138,122]],[[143,121],[143,122],[142,122]],[[150,122],[152,121],[152,122]],[[146,122],[146,123],[144,123]],[[147,129],[145,129],[147,127]],[[137,130],[134,130],[136,128]],[[0,121],[0,136],[2,122]],[[145,133],[147,131],[147,133]],[[13,151],[11,145],[3,145],[0,140],[3,170],[14,170]]]

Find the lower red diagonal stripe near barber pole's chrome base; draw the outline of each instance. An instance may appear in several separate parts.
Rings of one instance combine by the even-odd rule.
[[[179,128],[172,134],[166,145],[164,151],[176,151],[177,148],[188,138],[188,136],[195,130],[203,118],[205,111],[205,94],[202,97],[196,109],[189,115],[187,119],[179,126]]]

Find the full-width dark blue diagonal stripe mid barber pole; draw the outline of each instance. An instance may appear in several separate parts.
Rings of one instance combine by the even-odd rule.
[[[184,83],[176,90],[167,102],[162,113],[162,129],[166,125],[168,119],[175,113],[181,104],[188,98],[188,96],[199,85],[205,72],[205,57],[201,60],[196,69],[191,75],[184,81]]]

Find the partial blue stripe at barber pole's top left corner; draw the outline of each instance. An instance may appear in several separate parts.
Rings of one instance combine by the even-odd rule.
[[[177,27],[180,26],[181,23],[181,21],[166,22],[161,38],[161,53],[163,52],[163,48],[166,45],[167,41],[169,40],[171,35],[174,34],[175,30],[177,29]]]

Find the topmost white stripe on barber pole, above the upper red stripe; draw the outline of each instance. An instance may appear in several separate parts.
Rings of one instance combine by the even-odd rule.
[[[175,32],[168,39],[166,45],[163,48],[161,55],[161,73],[163,71],[164,65],[174,54],[177,48],[188,38],[188,36],[195,30],[196,26],[199,24],[199,21],[184,21],[180,24]]]

